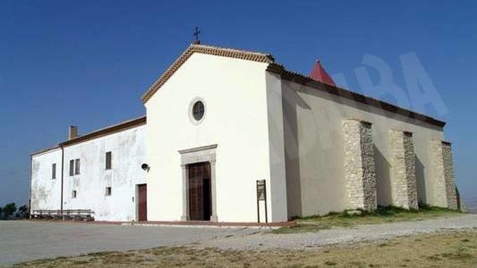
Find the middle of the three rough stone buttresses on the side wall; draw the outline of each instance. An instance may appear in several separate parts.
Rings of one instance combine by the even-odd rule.
[[[416,156],[412,133],[390,130],[390,181],[393,205],[418,209]]]

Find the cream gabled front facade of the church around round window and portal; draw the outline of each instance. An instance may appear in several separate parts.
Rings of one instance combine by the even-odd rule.
[[[219,222],[256,222],[256,180],[267,179],[269,220],[286,220],[284,183],[270,182],[266,63],[193,53],[146,103],[148,219],[179,221],[182,168],[179,150],[217,144]],[[200,125],[189,120],[191,101],[207,111]],[[276,197],[276,196],[275,196]],[[286,202],[286,201],[285,201]],[[274,205],[276,204],[276,207]],[[281,209],[280,209],[281,207]]]

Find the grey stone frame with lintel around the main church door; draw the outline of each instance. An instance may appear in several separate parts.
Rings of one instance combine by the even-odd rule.
[[[215,187],[215,151],[217,144],[208,146],[201,146],[196,148],[189,148],[179,150],[181,154],[182,167],[182,221],[190,220],[189,213],[189,164],[198,162],[210,163],[210,191],[212,201],[212,215],[210,215],[210,222],[217,222],[217,193]]]

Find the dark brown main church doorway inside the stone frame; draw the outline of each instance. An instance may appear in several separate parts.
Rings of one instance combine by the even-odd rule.
[[[212,212],[210,164],[189,165],[189,216],[191,220],[208,221]]]

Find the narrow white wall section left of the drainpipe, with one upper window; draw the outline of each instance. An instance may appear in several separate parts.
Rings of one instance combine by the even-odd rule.
[[[51,165],[56,164],[56,179]],[[31,210],[59,210],[61,207],[61,149],[32,155]]]

